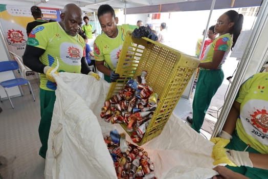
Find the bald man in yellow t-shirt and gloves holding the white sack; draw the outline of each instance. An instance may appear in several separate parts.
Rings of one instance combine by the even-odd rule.
[[[39,155],[46,158],[48,137],[55,103],[57,85],[51,72],[83,73],[99,76],[90,71],[83,51],[84,39],[78,35],[82,25],[82,10],[75,4],[64,6],[60,21],[36,26],[31,31],[23,61],[31,70],[40,73],[40,113],[38,128],[42,146]]]

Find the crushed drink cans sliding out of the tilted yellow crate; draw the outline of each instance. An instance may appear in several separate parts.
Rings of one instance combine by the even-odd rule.
[[[111,123],[125,123],[131,140],[138,143],[150,123],[159,102],[158,94],[146,83],[146,71],[135,80],[128,80],[118,94],[104,102],[101,118]]]

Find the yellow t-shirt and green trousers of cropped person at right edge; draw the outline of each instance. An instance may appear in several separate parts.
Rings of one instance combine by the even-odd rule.
[[[237,94],[240,115],[232,139],[226,148],[268,154],[268,73],[258,73],[245,81]],[[230,167],[250,178],[267,178],[268,170],[251,167]]]

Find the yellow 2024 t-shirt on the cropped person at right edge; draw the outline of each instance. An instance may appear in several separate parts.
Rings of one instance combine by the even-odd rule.
[[[236,122],[239,138],[262,154],[268,154],[268,73],[245,81],[236,101],[241,103]]]

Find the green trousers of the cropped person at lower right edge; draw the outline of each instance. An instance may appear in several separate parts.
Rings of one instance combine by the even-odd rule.
[[[238,151],[244,151],[244,149],[247,147],[247,144],[239,139],[236,131],[233,132],[232,137],[233,139],[225,148],[238,150]],[[246,151],[251,152],[251,153],[260,153],[251,147],[249,147]],[[251,168],[251,167],[245,167],[245,166],[231,167],[229,165],[227,165],[226,167],[235,172],[248,176],[249,178],[254,178],[254,179],[268,178],[268,170],[265,170],[265,169],[254,168],[254,167]]]

